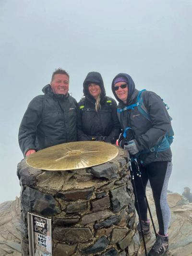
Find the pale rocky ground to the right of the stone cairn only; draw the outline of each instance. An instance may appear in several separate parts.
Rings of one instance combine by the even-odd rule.
[[[146,192],[152,216],[157,227],[155,205],[151,189]],[[168,193],[168,204],[171,210],[171,221],[168,230],[169,251],[167,256],[191,256],[192,255],[192,203],[177,193]],[[151,231],[153,226],[151,225]],[[158,230],[157,230],[158,231]],[[155,242],[155,234],[152,232],[146,238],[146,247],[149,249]],[[143,248],[143,246],[142,246]],[[144,253],[144,249],[142,250]],[[144,254],[142,254],[144,255]]]

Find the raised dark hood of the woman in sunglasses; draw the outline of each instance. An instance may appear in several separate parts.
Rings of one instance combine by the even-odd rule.
[[[115,79],[116,79],[117,77],[120,77],[120,76],[121,76],[121,77],[124,77],[124,78],[127,80],[127,84],[128,84],[128,97],[127,97],[127,102],[126,102],[126,103],[124,103],[122,100],[120,100],[120,99],[117,97],[117,95],[116,95],[116,93],[115,93],[115,90],[114,90],[114,81],[115,81]],[[129,74],[126,74],[126,73],[119,73],[119,74],[117,74],[117,75],[114,77],[114,79],[113,79],[113,81],[112,81],[111,89],[112,89],[112,92],[113,92],[113,95],[115,96],[115,98],[116,98],[120,103],[122,103],[123,105],[128,105],[128,104],[131,103],[132,95],[133,95],[134,91],[136,90],[136,89],[135,89],[135,84],[134,84],[134,82],[133,82],[133,80],[132,80],[132,77],[131,77]]]

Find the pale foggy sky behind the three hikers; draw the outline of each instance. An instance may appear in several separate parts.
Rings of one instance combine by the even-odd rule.
[[[164,98],[175,132],[168,189],[192,189],[191,13],[191,0],[1,0],[0,202],[19,195],[19,125],[58,67],[77,101],[90,71],[108,96],[114,76],[128,73],[137,89]]]

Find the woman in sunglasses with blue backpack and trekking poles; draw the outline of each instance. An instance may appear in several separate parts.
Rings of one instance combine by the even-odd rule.
[[[135,187],[133,183],[133,191],[138,198],[138,205],[135,201],[135,208],[141,213],[141,224],[138,223],[137,229],[141,234],[142,225],[144,234],[150,232],[144,196],[149,180],[156,205],[159,230],[156,234],[156,242],[148,255],[162,256],[168,250],[170,221],[167,201],[168,180],[172,171],[170,141],[173,138],[173,131],[170,117],[162,99],[151,91],[139,92],[135,89],[132,77],[126,73],[116,75],[111,88],[119,101],[118,117],[122,133],[118,144],[129,151],[133,172],[136,174],[138,166],[141,171],[141,177],[134,175]]]

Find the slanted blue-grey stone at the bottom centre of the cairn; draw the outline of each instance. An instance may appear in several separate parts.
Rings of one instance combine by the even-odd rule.
[[[84,254],[96,254],[104,251],[108,247],[109,241],[106,237],[99,238],[94,245],[83,250]]]

